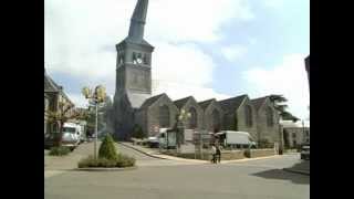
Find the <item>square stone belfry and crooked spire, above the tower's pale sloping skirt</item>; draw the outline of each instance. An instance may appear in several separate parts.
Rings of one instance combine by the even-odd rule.
[[[116,44],[116,94],[152,94],[152,53],[154,46],[144,40],[148,0],[138,0],[128,36]]]

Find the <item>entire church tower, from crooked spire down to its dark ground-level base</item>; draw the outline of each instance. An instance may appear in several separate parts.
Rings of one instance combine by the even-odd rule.
[[[128,36],[116,44],[116,86],[114,132],[128,139],[136,124],[136,111],[152,95],[152,54],[154,46],[144,40],[148,0],[138,0],[131,19]]]

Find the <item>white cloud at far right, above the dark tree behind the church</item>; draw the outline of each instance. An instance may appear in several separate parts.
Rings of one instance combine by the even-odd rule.
[[[283,94],[289,111],[301,118],[309,117],[310,93],[303,54],[285,55],[280,64],[271,69],[252,67],[243,73],[254,96]]]

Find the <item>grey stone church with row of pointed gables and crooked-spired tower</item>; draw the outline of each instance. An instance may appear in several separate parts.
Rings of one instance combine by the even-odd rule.
[[[147,136],[159,128],[173,128],[176,115],[185,109],[190,118],[186,129],[248,132],[257,140],[282,142],[279,115],[269,97],[251,100],[247,94],[217,101],[197,102],[194,96],[171,100],[166,93],[152,95],[154,46],[144,40],[148,0],[138,0],[131,19],[128,35],[116,44],[116,88],[113,125],[116,138],[124,140],[135,125]]]

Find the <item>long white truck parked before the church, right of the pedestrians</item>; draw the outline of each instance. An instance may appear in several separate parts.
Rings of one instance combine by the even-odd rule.
[[[218,140],[223,147],[230,148],[256,148],[257,144],[247,132],[221,130],[216,133]]]

